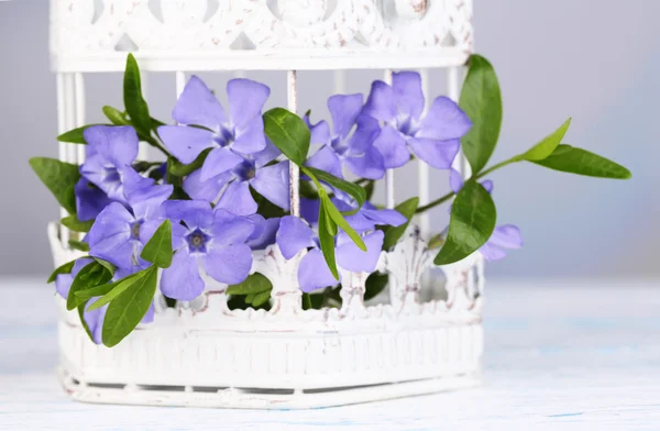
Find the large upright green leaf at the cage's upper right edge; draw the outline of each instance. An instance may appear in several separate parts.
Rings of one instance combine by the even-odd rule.
[[[470,57],[470,69],[463,84],[459,106],[472,129],[461,139],[465,157],[474,174],[481,172],[497,145],[502,126],[502,93],[491,63],[480,55]]]

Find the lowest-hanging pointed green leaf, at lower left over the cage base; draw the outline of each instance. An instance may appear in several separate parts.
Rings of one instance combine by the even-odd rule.
[[[119,344],[140,323],[148,311],[156,292],[157,268],[146,275],[108,306],[103,320],[102,341],[108,347]]]

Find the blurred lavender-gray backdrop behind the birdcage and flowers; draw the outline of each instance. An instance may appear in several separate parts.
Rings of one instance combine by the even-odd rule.
[[[494,161],[526,150],[568,117],[566,142],[615,158],[632,170],[629,181],[606,181],[513,166],[493,175],[501,222],[520,226],[525,248],[488,267],[503,277],[652,277],[660,240],[657,100],[660,96],[660,1],[475,1],[477,51],[498,73],[505,120]],[[57,218],[54,199],[28,159],[57,154],[55,78],[48,66],[46,1],[0,2],[0,275],[44,275],[52,269],[45,226]],[[202,77],[221,93],[229,78]],[[271,106],[284,103],[283,74],[251,74],[273,89]],[[369,91],[376,71],[348,77],[348,90]],[[431,90],[443,91],[439,71]],[[324,114],[328,73],[301,74],[302,107]],[[174,78],[148,76],[152,112],[167,120]],[[88,119],[103,104],[120,106],[121,77],[86,80]],[[447,174],[432,175],[433,196]],[[415,167],[397,172],[397,198],[414,195]],[[380,190],[382,196],[382,190]],[[437,209],[442,229],[447,211]]]

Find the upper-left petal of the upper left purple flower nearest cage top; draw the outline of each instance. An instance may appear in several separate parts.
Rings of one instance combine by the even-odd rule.
[[[219,131],[222,124],[228,123],[222,104],[206,84],[195,75],[184,87],[172,112],[172,118],[177,123],[204,125],[212,131]]]

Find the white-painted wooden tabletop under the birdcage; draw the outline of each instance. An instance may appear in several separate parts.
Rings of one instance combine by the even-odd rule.
[[[491,281],[483,387],[308,411],[70,401],[53,295],[0,280],[0,430],[660,430],[656,280]]]

